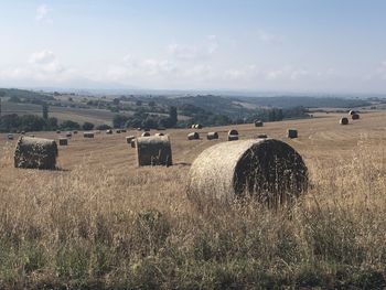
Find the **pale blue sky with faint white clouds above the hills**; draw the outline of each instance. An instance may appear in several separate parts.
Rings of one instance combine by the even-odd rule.
[[[382,0],[0,0],[0,86],[386,93]]]

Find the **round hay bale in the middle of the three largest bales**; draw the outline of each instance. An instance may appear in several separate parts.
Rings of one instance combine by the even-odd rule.
[[[172,165],[169,136],[139,137],[136,139],[138,165]]]

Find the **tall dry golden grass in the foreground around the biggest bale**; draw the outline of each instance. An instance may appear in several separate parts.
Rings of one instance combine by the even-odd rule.
[[[1,289],[386,284],[380,148],[309,160],[312,186],[291,208],[205,213],[185,197],[185,168],[15,171],[2,151],[0,175],[22,179],[0,185]]]

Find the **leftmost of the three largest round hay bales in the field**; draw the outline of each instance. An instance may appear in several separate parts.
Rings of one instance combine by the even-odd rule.
[[[54,140],[21,137],[14,151],[14,167],[55,169],[57,146]]]

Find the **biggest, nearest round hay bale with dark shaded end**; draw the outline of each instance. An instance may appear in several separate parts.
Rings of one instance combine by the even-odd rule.
[[[223,142],[195,159],[187,184],[189,197],[201,205],[251,195],[275,206],[307,189],[308,170],[300,154],[282,141]]]

